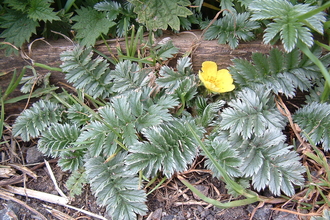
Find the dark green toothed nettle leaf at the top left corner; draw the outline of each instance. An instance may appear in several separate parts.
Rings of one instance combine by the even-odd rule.
[[[29,41],[32,34],[36,34],[36,28],[39,27],[37,21],[30,19],[20,11],[8,10],[0,19],[0,27],[5,29],[0,34],[0,38],[5,38],[6,42],[17,47],[22,47],[25,42]],[[9,45],[3,47],[7,49],[6,55],[10,55],[15,51]]]

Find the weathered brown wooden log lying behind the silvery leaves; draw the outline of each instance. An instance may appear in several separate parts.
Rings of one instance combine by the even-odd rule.
[[[232,50],[228,45],[220,45],[217,40],[206,41],[203,40],[201,31],[185,31],[178,34],[166,33],[161,38],[156,39],[158,42],[165,38],[170,37],[173,44],[179,48],[180,55],[191,51],[192,65],[194,71],[197,73],[201,69],[202,63],[206,60],[214,61],[218,64],[219,68],[227,68],[232,64],[233,58],[250,59],[253,52],[268,53],[271,47],[264,45],[261,40],[256,40],[247,43],[241,43],[238,48]],[[74,45],[66,39],[59,39],[56,41],[35,41],[30,45],[30,50],[25,49],[25,53],[29,58],[23,59],[22,56],[5,57],[4,51],[0,53],[0,72],[5,75],[1,76],[1,89],[4,91],[10,82],[14,69],[21,71],[26,65],[32,65],[33,62],[46,64],[51,67],[59,67],[61,64],[60,53],[65,50],[72,49]],[[125,42],[122,39],[110,40],[109,46],[111,52],[116,55],[116,46],[120,45],[124,49]],[[110,56],[107,47],[104,44],[99,44],[96,48],[102,53]],[[172,60],[169,65],[175,66],[175,60]],[[42,68],[35,68],[39,74],[46,74],[49,71]],[[32,74],[31,70],[27,70],[27,74]],[[66,83],[64,74],[61,72],[52,72],[50,82],[54,85],[61,86]],[[22,95],[19,90],[16,90],[11,97]],[[6,105],[6,112],[10,114],[20,113],[25,106],[25,101]]]

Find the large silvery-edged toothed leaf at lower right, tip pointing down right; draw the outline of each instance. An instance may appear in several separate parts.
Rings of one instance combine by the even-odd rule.
[[[281,130],[268,129],[262,136],[252,135],[249,139],[220,131],[216,138],[220,142],[229,140],[229,145],[238,151],[241,175],[251,177],[257,191],[268,186],[274,195],[282,191],[292,196],[293,185],[303,185],[305,168],[299,155],[291,150],[293,146],[284,143],[286,137]]]

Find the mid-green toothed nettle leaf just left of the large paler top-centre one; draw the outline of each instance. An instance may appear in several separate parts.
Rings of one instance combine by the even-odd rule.
[[[101,34],[107,34],[109,29],[116,25],[106,17],[106,13],[98,12],[93,8],[80,8],[77,15],[72,17],[76,23],[72,26],[77,31],[76,38],[83,46],[93,46]]]

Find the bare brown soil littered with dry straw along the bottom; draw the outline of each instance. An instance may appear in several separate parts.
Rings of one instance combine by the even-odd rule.
[[[8,133],[6,130],[5,133]],[[12,140],[11,146],[14,140]],[[53,181],[50,178],[48,169],[46,168],[44,159],[49,161],[51,172],[56,178],[56,182],[59,188],[65,195],[69,192],[65,187],[65,182],[69,176],[67,172],[61,171],[60,167],[57,166],[56,159],[40,157],[39,153],[36,152],[34,143],[24,146],[24,143],[16,144],[16,152],[10,152],[6,144],[2,144],[1,147],[1,159],[0,165],[10,165],[11,163],[23,164],[37,175],[37,178],[33,179],[26,176],[26,179],[22,183],[11,184],[19,187],[25,187],[26,189],[33,189],[40,192],[45,192],[53,195],[59,195],[55,188]],[[20,146],[21,145],[21,146]],[[32,156],[31,156],[32,155]],[[6,160],[4,160],[6,159]],[[26,160],[29,162],[35,162],[33,159],[41,160],[41,162],[34,164],[26,164]],[[181,174],[186,180],[194,184],[201,192],[206,196],[217,199],[222,202],[230,201],[232,198],[227,194],[225,184],[219,181],[217,178],[213,178],[208,170],[203,168],[202,158],[197,158],[197,166],[194,169],[188,170]],[[37,169],[35,169],[37,167]],[[0,184],[8,179],[13,179],[22,175],[22,172],[17,170],[12,173],[13,176],[10,178],[0,178]],[[155,185],[157,184],[157,181]],[[151,186],[148,190],[152,189]],[[6,188],[6,186],[4,186]],[[1,197],[1,194],[0,194]],[[3,198],[3,197],[1,197]],[[72,198],[70,205],[78,209],[73,210],[65,206],[56,205],[52,203],[44,202],[40,199],[33,199],[27,196],[13,195],[14,199],[4,200],[0,199],[0,219],[42,219],[34,212],[28,210],[27,206],[35,209],[43,215],[45,219],[99,219],[91,217],[90,215],[84,214],[79,209],[84,209],[91,213],[103,216],[104,219],[111,219],[107,215],[105,208],[99,207],[96,203],[95,197],[89,186],[85,186],[83,193],[75,198]],[[26,205],[17,203],[18,201],[24,202]],[[194,195],[186,186],[184,186],[175,176],[162,184],[157,190],[148,195],[148,208],[149,213],[146,216],[140,216],[140,220],[295,220],[299,219],[298,216],[287,213],[274,211],[272,208],[281,207],[283,204],[272,205],[272,204],[251,204],[230,209],[220,209],[199,199],[198,196]],[[281,208],[291,209],[291,203]],[[58,212],[59,211],[59,212]],[[62,216],[62,217],[61,217]]]

